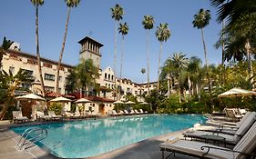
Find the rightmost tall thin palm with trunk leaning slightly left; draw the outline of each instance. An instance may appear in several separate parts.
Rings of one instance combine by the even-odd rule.
[[[204,40],[204,32],[203,28],[207,25],[209,25],[210,22],[210,10],[204,10],[200,9],[199,13],[197,15],[194,15],[194,20],[192,22],[193,27],[197,27],[201,30],[201,38],[202,38],[202,44],[203,44],[203,50],[204,50],[204,58],[205,58],[205,65],[206,69],[208,70],[208,60],[207,60],[207,51],[206,51],[206,45]],[[210,92],[210,77],[209,73],[207,71],[207,78],[208,78],[208,87]]]

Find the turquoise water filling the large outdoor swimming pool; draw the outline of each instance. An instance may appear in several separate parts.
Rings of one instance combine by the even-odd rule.
[[[137,143],[149,137],[168,134],[205,123],[198,114],[120,116],[57,124],[42,124],[48,136],[38,143],[51,154],[64,158],[94,156]],[[35,127],[35,125],[33,126]],[[28,127],[12,128],[22,134]]]

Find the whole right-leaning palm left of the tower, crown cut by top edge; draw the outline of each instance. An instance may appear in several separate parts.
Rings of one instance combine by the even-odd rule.
[[[63,42],[62,42],[62,46],[61,46],[61,51],[59,54],[59,59],[58,59],[58,64],[57,64],[57,68],[56,68],[56,93],[58,93],[58,85],[59,85],[59,70],[60,70],[60,65],[61,65],[61,61],[62,61],[62,56],[64,53],[64,48],[65,48],[65,44],[66,44],[66,37],[67,37],[67,27],[68,27],[68,22],[69,22],[69,15],[70,15],[70,11],[72,7],[77,7],[77,5],[79,5],[80,0],[65,0],[66,4],[67,4],[67,21],[66,21],[66,27],[65,27],[65,33],[64,33],[64,38],[63,38]],[[58,94],[56,94],[56,97],[58,96]]]

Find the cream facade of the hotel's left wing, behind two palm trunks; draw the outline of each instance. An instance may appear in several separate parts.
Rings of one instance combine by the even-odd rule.
[[[46,58],[41,58],[41,66],[46,92],[54,92],[56,85],[57,63]],[[24,69],[29,73],[29,75],[33,76],[29,82],[23,83],[22,86],[29,88],[35,94],[41,94],[40,76],[36,55],[9,50],[3,58],[3,70],[6,72],[9,72],[10,70],[15,75],[19,69]],[[59,72],[59,90],[61,94],[65,94],[66,78],[67,75],[69,75],[69,71],[72,69],[72,65],[61,65],[61,70]]]

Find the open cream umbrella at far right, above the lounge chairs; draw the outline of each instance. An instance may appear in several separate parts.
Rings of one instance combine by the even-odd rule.
[[[232,97],[232,96],[248,96],[248,95],[252,95],[252,94],[256,94],[256,92],[241,89],[241,88],[232,88],[227,92],[219,94],[218,96],[219,97]]]

